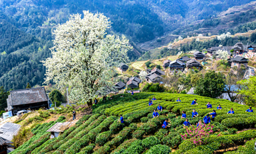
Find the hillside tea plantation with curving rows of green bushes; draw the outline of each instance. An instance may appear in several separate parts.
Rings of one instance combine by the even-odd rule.
[[[148,106],[148,100],[153,96],[157,100],[154,100],[153,106]],[[178,97],[181,102],[176,102]],[[198,105],[191,105],[195,98]],[[207,102],[212,104],[212,108],[207,109]],[[158,104],[161,104],[163,110],[159,112],[159,117],[153,119],[152,112]],[[219,104],[222,110],[216,110]],[[191,117],[193,108],[198,112],[199,117]],[[234,108],[234,114],[227,114],[230,108]],[[34,136],[11,154],[255,154],[256,113],[245,112],[248,108],[249,106],[228,100],[189,94],[141,92],[133,96],[116,95],[111,100],[101,100],[93,106],[92,115],[85,115],[75,126],[67,129],[57,138],[50,139],[50,134],[46,133],[46,130],[57,122],[65,121],[63,117],[56,122],[37,125],[32,129]],[[181,119],[183,110],[187,113],[191,125],[196,125],[213,109],[216,110],[217,116],[211,123],[212,133],[203,138],[203,143],[194,144],[191,139],[184,140],[181,137],[181,134],[187,132],[183,128],[185,119]],[[119,123],[120,114],[123,114],[124,124]],[[168,119],[171,125],[167,129],[162,129],[165,119]]]

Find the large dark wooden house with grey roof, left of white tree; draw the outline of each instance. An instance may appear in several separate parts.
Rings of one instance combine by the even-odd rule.
[[[15,115],[19,110],[49,108],[44,87],[11,90],[7,98],[7,110]]]

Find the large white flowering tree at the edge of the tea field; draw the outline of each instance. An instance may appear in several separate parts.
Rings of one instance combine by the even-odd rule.
[[[51,48],[52,57],[43,61],[46,80],[53,80],[58,88],[69,85],[70,99],[81,100],[92,105],[98,93],[113,86],[115,66],[126,62],[129,40],[124,36],[106,35],[110,21],[104,15],[84,11],[71,15],[69,21],[54,31],[55,40]]]

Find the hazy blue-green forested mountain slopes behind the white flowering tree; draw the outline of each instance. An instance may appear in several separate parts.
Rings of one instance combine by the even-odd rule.
[[[83,10],[104,13],[112,22],[108,33],[125,34],[136,50],[129,51],[128,56],[136,60],[143,54],[136,44],[166,33],[182,35],[195,29],[200,32],[202,27],[214,29],[220,25],[218,15],[251,1],[0,0],[0,86],[9,90],[24,88],[26,82],[42,84],[45,69],[40,60],[51,56],[52,32],[71,14]],[[250,16],[245,13],[243,17],[254,14],[251,11]],[[243,22],[247,21],[251,19]]]

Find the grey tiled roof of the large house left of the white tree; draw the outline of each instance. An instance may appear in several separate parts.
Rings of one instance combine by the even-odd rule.
[[[12,106],[20,104],[31,104],[36,102],[45,102],[48,100],[44,87],[12,90],[10,92],[10,95]]]

